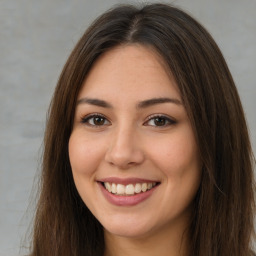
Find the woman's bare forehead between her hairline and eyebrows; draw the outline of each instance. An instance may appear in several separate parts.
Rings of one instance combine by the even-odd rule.
[[[134,97],[134,94],[162,97],[170,93],[179,96],[164,60],[151,48],[133,44],[118,46],[101,55],[89,71],[79,97]]]

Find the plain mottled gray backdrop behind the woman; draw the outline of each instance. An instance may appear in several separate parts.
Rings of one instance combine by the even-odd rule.
[[[96,16],[128,2],[0,0],[0,256],[21,255],[33,216],[46,111],[66,58]],[[166,2],[183,7],[216,39],[256,152],[256,0]]]

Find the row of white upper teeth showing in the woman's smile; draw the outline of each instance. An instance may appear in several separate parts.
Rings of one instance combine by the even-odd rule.
[[[128,185],[123,185],[123,184],[115,184],[115,183],[109,183],[109,182],[104,182],[105,188],[112,194],[116,195],[134,195],[138,194],[141,192],[146,192],[147,190],[152,189],[153,187],[156,186],[156,182],[153,183],[136,183],[135,185],[133,184],[128,184]]]

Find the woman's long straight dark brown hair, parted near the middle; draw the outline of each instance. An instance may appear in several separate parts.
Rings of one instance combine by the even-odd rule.
[[[92,64],[122,44],[150,46],[173,74],[203,162],[191,255],[248,256],[254,233],[253,155],[240,99],[209,33],[169,5],[122,5],[100,16],[60,75],[44,139],[31,256],[100,256],[103,228],[76,190],[68,155],[77,95]]]

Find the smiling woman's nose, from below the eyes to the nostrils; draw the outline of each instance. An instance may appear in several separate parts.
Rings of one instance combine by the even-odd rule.
[[[128,169],[144,161],[142,145],[135,131],[119,129],[110,136],[110,144],[105,155],[108,163],[119,169]]]

